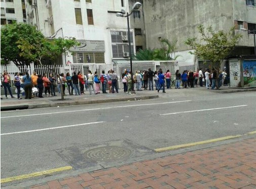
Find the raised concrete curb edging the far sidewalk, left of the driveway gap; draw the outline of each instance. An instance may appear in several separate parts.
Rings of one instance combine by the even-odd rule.
[[[1,111],[16,110],[16,109],[33,109],[33,108],[50,108],[58,106],[74,106],[74,105],[86,105],[86,104],[101,104],[101,103],[112,103],[112,102],[124,102],[124,101],[139,101],[139,100],[149,100],[157,99],[158,95],[148,95],[148,96],[133,96],[133,97],[123,97],[123,98],[113,98],[113,99],[95,99],[95,100],[64,100],[63,102],[49,102],[44,104],[31,104],[31,105],[10,105],[1,107]]]

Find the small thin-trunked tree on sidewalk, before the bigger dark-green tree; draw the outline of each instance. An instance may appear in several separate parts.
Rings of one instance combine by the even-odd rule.
[[[29,40],[21,38],[17,41],[18,48],[21,53],[20,56],[31,59],[39,63],[40,66],[47,67],[52,73],[56,74],[61,82],[59,73],[55,72],[56,60],[63,53],[66,54],[71,48],[71,46],[79,45],[79,42],[76,41],[76,38],[57,38],[57,39],[47,39],[43,38],[41,43],[30,43]],[[54,68],[50,69],[48,65],[43,65],[42,60],[49,58],[54,62]],[[61,100],[64,100],[63,89],[61,87]]]

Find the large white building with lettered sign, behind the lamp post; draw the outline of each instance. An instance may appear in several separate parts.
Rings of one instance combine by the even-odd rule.
[[[15,1],[15,0],[14,0]],[[18,1],[18,0],[17,0]],[[29,1],[28,1],[29,2]],[[47,37],[75,37],[81,46],[62,62],[106,63],[129,56],[127,20],[117,17],[128,0],[30,0],[26,2],[27,23],[36,25]],[[131,30],[132,51],[135,52]]]

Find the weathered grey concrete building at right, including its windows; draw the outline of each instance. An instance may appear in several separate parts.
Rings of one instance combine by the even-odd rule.
[[[176,55],[180,55],[177,60],[196,63],[198,60],[188,54],[191,49],[185,41],[188,37],[200,37],[197,30],[199,24],[211,25],[214,30],[229,30],[235,26],[235,32],[243,37],[233,56],[252,55],[254,44],[251,30],[256,29],[255,6],[255,0],[172,0],[161,3],[144,0],[147,48],[158,48],[159,38],[177,39]]]

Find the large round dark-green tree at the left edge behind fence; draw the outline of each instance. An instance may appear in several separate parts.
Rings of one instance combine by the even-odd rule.
[[[29,65],[33,60],[20,56],[21,50],[17,42],[21,39],[31,44],[38,45],[44,39],[44,35],[29,24],[13,23],[1,28],[1,59],[5,62],[13,61],[16,66]]]

